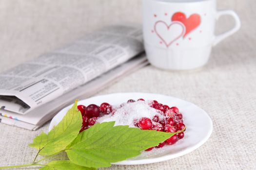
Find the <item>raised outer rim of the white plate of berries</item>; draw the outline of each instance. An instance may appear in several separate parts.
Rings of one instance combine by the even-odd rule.
[[[164,97],[170,97],[170,98],[173,98],[173,99],[177,99],[179,101],[182,101],[182,102],[188,102],[188,101],[185,101],[185,100],[182,100],[180,98],[176,98],[176,97],[172,97],[172,96],[168,96],[168,95],[163,95],[163,94],[158,94],[158,93],[140,93],[140,92],[126,92],[126,93],[109,93],[109,94],[104,94],[104,95],[98,95],[98,96],[93,96],[93,97],[90,97],[90,98],[87,98],[87,99],[83,99],[79,102],[82,102],[82,101],[85,101],[85,100],[91,100],[93,98],[98,98],[98,97],[106,97],[106,96],[109,96],[109,95],[122,95],[122,94],[126,94],[126,95],[138,95],[138,94],[141,94],[141,95],[158,95],[158,96],[164,96]],[[202,146],[211,136],[212,132],[213,132],[213,121],[211,119],[211,117],[207,114],[206,111],[204,111],[202,108],[200,108],[199,106],[197,106],[196,104],[192,103],[192,102],[188,102],[194,106],[196,106],[198,109],[200,109],[202,111],[202,113],[204,114],[204,116],[206,116],[206,118],[208,119],[209,121],[209,125],[210,125],[210,128],[209,128],[209,131],[207,133],[207,135],[202,139],[200,140],[196,145],[193,145],[191,147],[188,147],[186,148],[185,152],[179,152],[179,153],[172,153],[172,154],[167,154],[167,155],[163,155],[163,156],[160,156],[160,157],[157,157],[157,158],[146,158],[146,159],[139,159],[139,160],[124,160],[124,161],[120,161],[120,162],[115,162],[115,163],[111,163],[112,165],[140,165],[140,164],[151,164],[151,163],[157,163],[157,162],[162,162],[162,161],[166,161],[166,160],[170,160],[170,159],[174,159],[174,158],[177,158],[179,156],[183,156],[187,153],[191,153],[192,151],[195,151],[197,148],[199,148],[200,146]],[[50,125],[49,125],[49,128],[48,128],[48,131],[51,130],[51,127],[53,126],[53,120],[56,119],[56,117],[58,116],[58,114],[60,112],[62,112],[63,110],[67,109],[67,108],[71,108],[73,104],[70,104],[66,107],[64,107],[63,109],[61,109],[55,116],[54,118],[51,120],[50,122]]]

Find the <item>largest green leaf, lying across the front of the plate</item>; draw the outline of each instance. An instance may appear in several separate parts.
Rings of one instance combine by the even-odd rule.
[[[70,161],[85,167],[110,167],[113,162],[135,157],[177,134],[128,126],[113,127],[114,124],[97,123],[80,133],[65,151]]]

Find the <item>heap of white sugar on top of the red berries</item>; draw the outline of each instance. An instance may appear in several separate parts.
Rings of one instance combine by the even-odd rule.
[[[116,112],[113,114],[105,115],[98,118],[98,122],[116,121],[115,125],[129,125],[130,127],[136,127],[134,120],[139,120],[142,117],[153,119],[158,115],[159,119],[163,119],[161,112],[149,106],[152,101],[137,101],[131,103],[122,103],[121,107],[113,106],[113,110]]]

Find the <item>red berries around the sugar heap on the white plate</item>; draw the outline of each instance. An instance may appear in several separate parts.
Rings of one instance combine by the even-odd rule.
[[[144,101],[144,99],[138,99],[138,101]],[[135,100],[128,100],[127,103],[136,102]],[[147,103],[147,102],[145,102]],[[183,123],[183,116],[179,112],[177,107],[169,107],[168,105],[163,105],[157,101],[148,102],[149,106],[155,108],[158,111],[158,115],[155,115],[152,119],[150,118],[140,118],[134,120],[134,125],[142,130],[157,130],[162,132],[178,132],[185,128]],[[120,105],[121,107],[122,105]],[[84,105],[78,106],[79,111],[82,114],[82,127],[80,132],[88,129],[97,122],[98,117],[114,114],[115,109],[109,103],[102,103],[100,106],[96,104],[90,104],[87,107]],[[161,115],[159,117],[159,115]],[[159,143],[156,148],[162,148],[165,144],[173,145],[179,139],[184,137],[184,132],[180,132],[176,135],[171,136],[169,139],[162,143]],[[149,148],[146,151],[151,151],[153,148]]]

